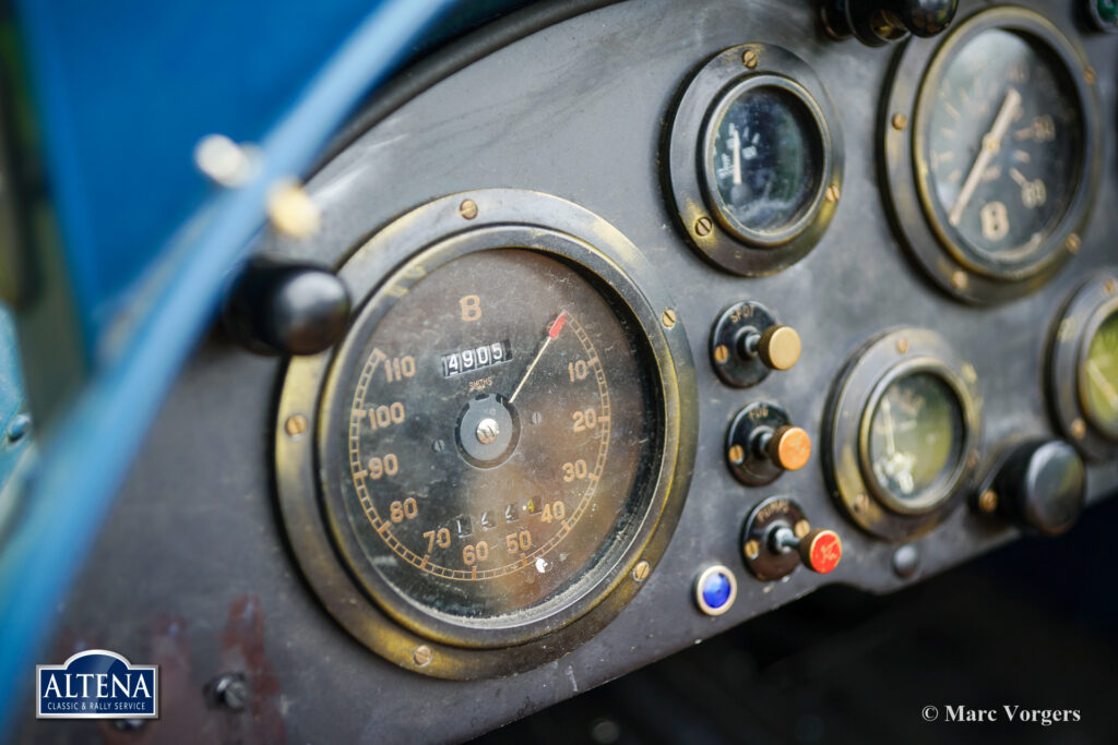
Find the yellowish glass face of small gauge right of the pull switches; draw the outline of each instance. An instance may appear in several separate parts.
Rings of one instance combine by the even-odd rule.
[[[902,375],[873,410],[873,478],[900,504],[916,506],[955,472],[963,440],[963,405],[951,386],[929,372]]]

